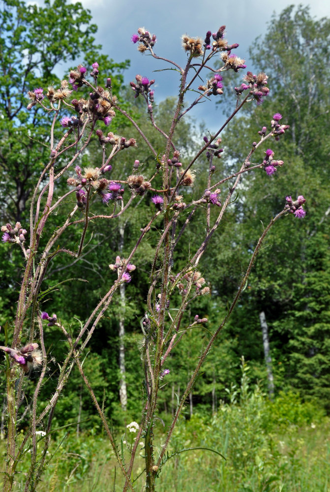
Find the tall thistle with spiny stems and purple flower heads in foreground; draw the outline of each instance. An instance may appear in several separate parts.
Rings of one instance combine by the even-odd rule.
[[[155,442],[154,429],[157,425],[157,402],[170,373],[169,355],[192,327],[203,327],[208,319],[198,314],[189,320],[187,308],[194,305],[200,296],[210,295],[208,279],[199,271],[203,254],[214,237],[227,209],[233,202],[240,182],[248,173],[265,171],[265,179],[277,171],[280,172],[283,161],[275,159],[275,153],[267,148],[272,140],[279,140],[288,129],[288,125],[280,123],[282,115],[270,115],[269,122],[256,135],[256,141],[250,145],[246,158],[240,168],[228,176],[219,179],[216,173],[217,162],[223,154],[221,133],[246,104],[261,104],[269,95],[268,77],[265,73],[257,75],[247,71],[242,78],[240,87],[233,94],[233,111],[225,123],[212,135],[201,138],[199,150],[194,156],[182,155],[174,143],[177,125],[188,112],[204,99],[224,97],[226,77],[229,71],[240,72],[246,68],[244,60],[234,54],[238,44],[229,44],[224,37],[225,26],[218,31],[206,33],[203,41],[200,37],[182,36],[182,47],[186,53],[186,63],[180,66],[177,62],[159,56],[155,52],[156,36],[139,28],[131,40],[138,43],[138,51],[147,53],[155,63],[166,62],[180,76],[180,89],[176,109],[169,128],[160,128],[154,118],[153,89],[155,80],[137,74],[135,81],[130,83],[135,97],[144,100],[150,125],[163,138],[163,149],[159,154],[151,145],[145,133],[134,118],[126,112],[118,96],[112,92],[109,74],[101,82],[102,67],[97,62],[91,67],[79,64],[69,73],[68,80],[63,80],[60,87],[48,89],[36,88],[29,92],[28,108],[39,105],[48,115],[52,115],[50,135],[50,158],[38,178],[30,204],[30,222],[17,223],[12,227],[9,223],[2,227],[2,241],[20,246],[26,262],[24,275],[18,298],[17,311],[12,327],[7,328],[5,346],[1,350],[7,355],[7,461],[3,490],[13,489],[17,466],[24,449],[31,442],[30,469],[25,481],[25,491],[35,491],[47,466],[47,449],[49,447],[54,411],[62,390],[70,377],[74,366],[77,366],[82,380],[86,384],[90,397],[98,411],[106,434],[111,442],[124,479],[123,491],[135,491],[133,465],[136,455],[140,453],[141,441],[144,442],[145,485],[149,492],[155,490],[155,483],[161,477],[161,470],[168,459],[168,447],[182,407],[191,392],[203,363],[213,343],[226,324],[233,309],[246,286],[251,268],[260,251],[262,243],[274,223],[282,216],[293,213],[302,218],[305,215],[303,205],[305,199],[299,196],[296,200],[291,196],[283,197],[283,208],[271,218],[269,224],[257,241],[245,274],[241,278],[237,293],[231,300],[227,314],[219,326],[208,326],[210,337],[201,346],[198,363],[186,385],[171,425],[167,429],[165,442]],[[220,57],[221,66],[213,64]],[[210,75],[211,73],[211,75]],[[209,78],[208,78],[209,77]],[[200,80],[205,80],[200,84]],[[200,85],[199,85],[200,84]],[[190,103],[185,103],[188,92],[194,90],[197,96]],[[79,92],[84,91],[80,97]],[[84,96],[86,91],[89,96]],[[185,105],[183,105],[185,103]],[[112,120],[121,114],[127,119],[130,127],[138,131],[145,144],[154,156],[154,169],[150,175],[140,172],[139,150],[136,149],[135,160],[129,176],[120,179],[112,177],[113,168],[118,165],[120,154],[128,148],[136,148],[136,140],[129,135],[117,135],[111,131]],[[55,128],[62,127],[62,137],[56,139]],[[109,127],[110,131],[108,131]],[[83,155],[88,156],[88,146],[92,138],[97,138],[100,156],[97,165],[81,165]],[[267,141],[267,142],[266,142]],[[264,149],[263,162],[253,162],[254,154]],[[116,159],[115,159],[116,157]],[[191,190],[196,182],[195,167],[197,162],[207,162],[204,177],[204,191],[195,197]],[[183,164],[184,163],[184,164]],[[59,183],[66,180],[67,189],[60,196]],[[159,183],[161,185],[159,186]],[[229,185],[229,187],[228,187]],[[227,191],[225,191],[227,190]],[[69,199],[74,197],[75,205],[69,211],[64,222],[50,230],[50,217],[57,210],[67,206]],[[135,239],[127,257],[113,251],[113,263],[109,265],[114,275],[113,284],[107,286],[106,294],[90,312],[88,319],[81,325],[65,326],[61,314],[49,315],[43,310],[39,293],[47,270],[58,255],[68,255],[78,261],[87,244],[88,230],[91,224],[116,221],[130,214],[130,208],[142,200],[152,203],[152,215],[146,223],[141,223],[139,235]],[[72,201],[72,200],[71,200]],[[104,207],[102,213],[95,212],[96,202]],[[190,245],[186,264],[178,267],[177,257],[184,234],[192,227],[196,211],[203,210],[205,218],[204,236],[198,244]],[[26,227],[24,229],[23,227]],[[75,250],[58,246],[62,235],[70,229],[80,230],[80,239]],[[134,256],[139,248],[149,240],[151,228],[159,232],[154,256],[150,258],[150,283],[146,299],[147,310],[140,320],[144,342],[141,348],[142,368],[139,376],[144,387],[144,402],[141,408],[140,422],[134,424],[135,440],[128,446],[129,461],[125,463],[120,446],[116,442],[112,427],[108,422],[102,402],[98,401],[92,386],[85,374],[81,356],[90,339],[93,337],[98,323],[106,315],[114,297],[119,294],[120,286],[129,283],[136,275]],[[178,299],[180,302],[178,303]],[[47,375],[48,348],[50,341],[44,337],[45,325],[57,327],[66,343],[63,350],[67,352],[61,364],[56,390],[49,395],[48,402],[41,410],[38,398],[43,380]],[[10,344],[10,346],[9,346]],[[8,346],[7,346],[8,345]],[[22,347],[23,345],[23,347]],[[40,349],[38,349],[38,345]],[[9,358],[9,357],[10,358]],[[30,427],[25,431],[20,444],[17,442],[17,409],[22,400],[25,378],[39,366],[37,384],[30,411]],[[46,423],[43,431],[42,453],[36,455],[36,435],[41,423]],[[128,426],[127,426],[128,427]],[[130,429],[129,429],[130,430]],[[138,451],[138,453],[137,453]]]

